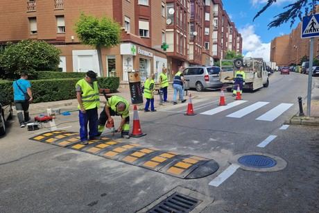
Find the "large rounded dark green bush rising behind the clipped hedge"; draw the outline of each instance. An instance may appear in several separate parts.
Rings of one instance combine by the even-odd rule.
[[[0,53],[2,78],[16,78],[21,71],[32,76],[33,71],[56,71],[60,63],[60,49],[37,40],[8,43]]]

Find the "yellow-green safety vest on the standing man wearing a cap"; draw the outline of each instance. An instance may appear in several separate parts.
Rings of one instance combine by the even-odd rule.
[[[76,83],[76,87],[79,85],[82,90],[82,102],[85,110],[91,110],[100,107],[100,96],[98,95],[98,83],[94,81],[93,88],[87,81],[83,78]],[[78,105],[80,110],[80,104]]]

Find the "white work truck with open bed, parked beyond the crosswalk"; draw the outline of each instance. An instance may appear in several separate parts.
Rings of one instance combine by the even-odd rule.
[[[266,71],[266,62],[262,58],[239,58],[234,60],[221,60],[221,82],[227,86],[227,91],[234,87],[234,76],[236,71],[243,67],[245,71],[244,89],[258,90],[261,87],[268,87],[269,79]]]

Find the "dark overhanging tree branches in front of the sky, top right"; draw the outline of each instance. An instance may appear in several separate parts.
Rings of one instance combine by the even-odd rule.
[[[302,20],[304,15],[309,14],[311,10],[314,10],[316,3],[319,0],[297,0],[294,3],[288,4],[284,7],[284,12],[276,15],[274,20],[268,24],[269,28],[280,26],[289,20],[291,21],[291,26],[295,23],[296,19]],[[277,0],[268,0],[266,5],[257,12],[254,17],[254,21],[259,15],[261,15],[265,10],[267,10],[273,3],[276,3]]]

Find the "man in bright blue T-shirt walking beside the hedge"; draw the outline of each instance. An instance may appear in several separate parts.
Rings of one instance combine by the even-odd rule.
[[[22,72],[20,79],[12,83],[15,109],[17,110],[17,117],[21,128],[26,126],[30,121],[29,104],[33,101],[31,91],[31,83],[28,81],[28,74]]]

